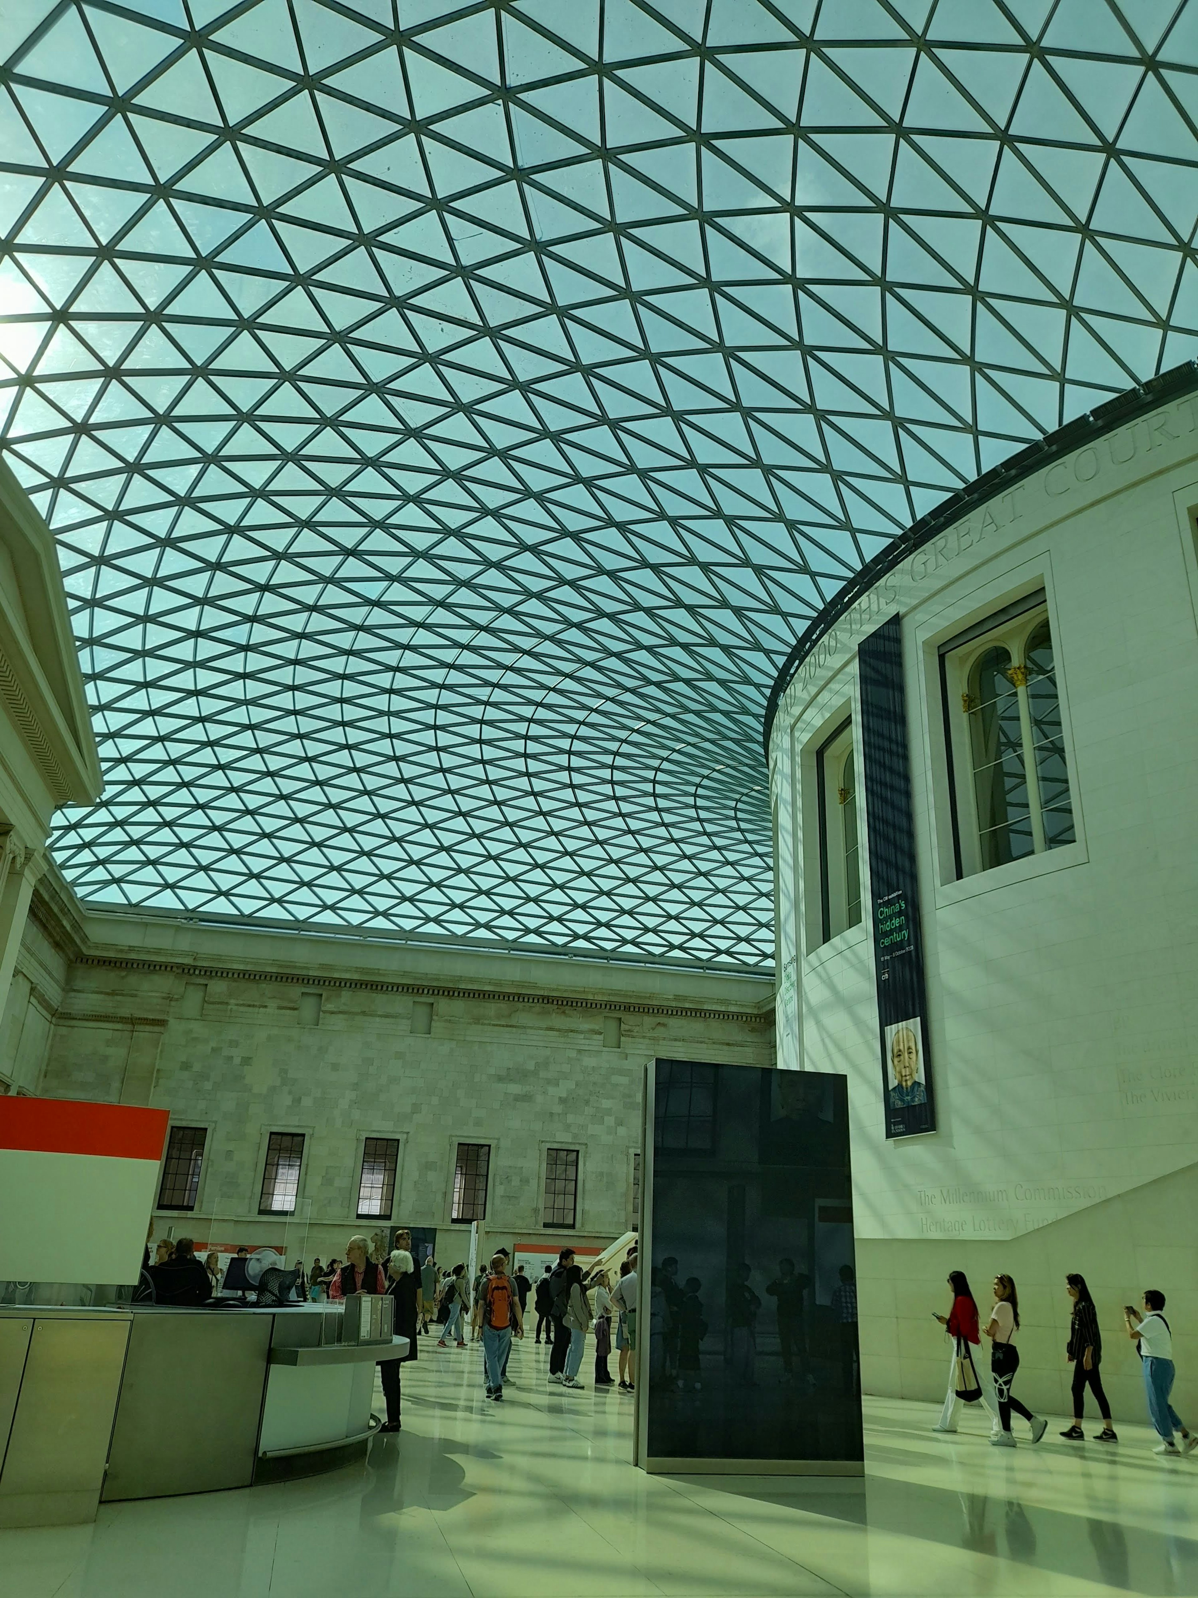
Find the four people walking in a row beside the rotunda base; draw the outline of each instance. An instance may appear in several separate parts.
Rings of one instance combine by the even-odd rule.
[[[1019,1369],[1019,1293],[1014,1278],[997,1275],[994,1278],[994,1307],[989,1320],[981,1325],[978,1302],[970,1290],[970,1282],[963,1270],[949,1272],[952,1288],[952,1307],[947,1315],[936,1315],[944,1330],[952,1338],[952,1355],[949,1365],[949,1390],[944,1398],[941,1417],[933,1427],[936,1432],[957,1430],[957,1403],[979,1401],[990,1413],[990,1443],[995,1448],[1014,1448],[1011,1433],[1011,1414],[1027,1421],[1032,1441],[1038,1443],[1048,1430],[1043,1416],[1035,1416],[1011,1395],[1011,1384]],[[1096,1443],[1117,1443],[1118,1433],[1110,1424],[1110,1403],[1102,1389],[1099,1374],[1102,1365],[1102,1331],[1099,1328],[1094,1298],[1086,1285],[1086,1278],[1078,1272],[1065,1277],[1065,1291],[1072,1301],[1069,1342],[1065,1344],[1065,1360],[1073,1366],[1073,1419],[1061,1437],[1069,1443],[1085,1441],[1085,1397],[1089,1387],[1099,1414],[1102,1430],[1094,1433]],[[1123,1323],[1128,1338],[1137,1346],[1140,1368],[1144,1374],[1144,1390],[1148,1403],[1148,1417],[1160,1437],[1153,1449],[1156,1454],[1190,1453],[1198,1448],[1198,1437],[1187,1430],[1180,1416],[1169,1403],[1176,1366],[1172,1361],[1172,1333],[1164,1318],[1164,1294],[1156,1288],[1148,1288],[1142,1298],[1142,1310],[1133,1304],[1123,1307]],[[981,1339],[990,1339],[990,1358],[974,1360],[973,1350],[981,1346]],[[1180,1437],[1180,1448],[1177,1446]]]

